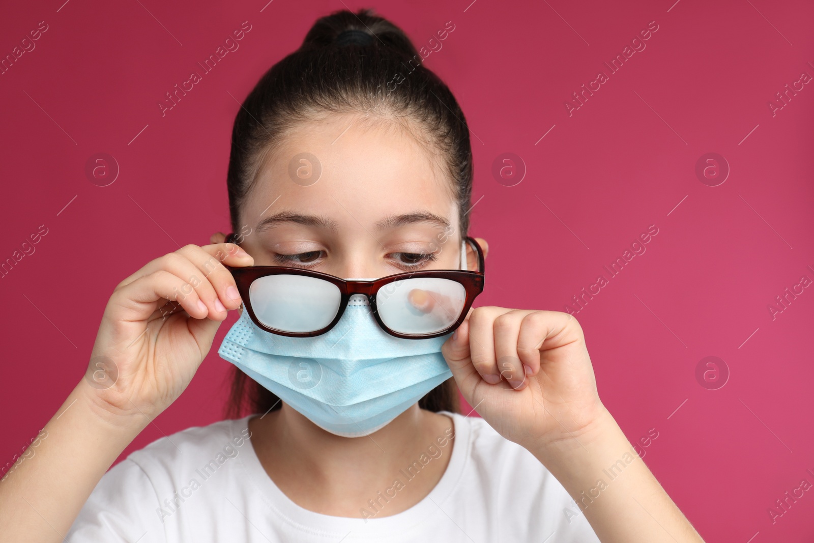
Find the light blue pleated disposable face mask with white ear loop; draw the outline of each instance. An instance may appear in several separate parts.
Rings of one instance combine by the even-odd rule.
[[[354,295],[336,326],[314,337],[266,332],[243,311],[217,353],[323,430],[359,437],[452,377],[441,354],[450,335],[396,338],[376,323],[366,297]]]

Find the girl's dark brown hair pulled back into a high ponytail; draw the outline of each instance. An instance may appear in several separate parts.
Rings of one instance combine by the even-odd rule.
[[[469,129],[449,87],[423,60],[400,28],[372,10],[335,11],[318,19],[300,48],[260,78],[235,116],[227,174],[232,231],[240,231],[240,210],[257,173],[287,131],[330,113],[358,113],[399,123],[439,160],[452,180],[465,236],[473,174]],[[277,396],[237,367],[233,371],[227,417],[279,409]],[[418,405],[457,412],[454,380],[432,389]]]

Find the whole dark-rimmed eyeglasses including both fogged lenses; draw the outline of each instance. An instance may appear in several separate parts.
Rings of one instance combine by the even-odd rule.
[[[226,237],[235,243],[234,234]],[[290,337],[322,335],[333,328],[353,295],[366,296],[376,322],[390,335],[427,339],[461,325],[484,291],[484,253],[475,239],[479,271],[427,269],[375,281],[346,281],[285,266],[247,266],[230,271],[243,308],[262,330]]]

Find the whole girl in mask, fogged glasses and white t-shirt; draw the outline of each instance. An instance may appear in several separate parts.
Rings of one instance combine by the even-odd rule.
[[[464,119],[399,28],[317,20],[235,119],[229,239],[119,283],[85,379],[0,484],[0,540],[702,541],[575,319],[471,309]],[[233,418],[107,471],[232,310]]]

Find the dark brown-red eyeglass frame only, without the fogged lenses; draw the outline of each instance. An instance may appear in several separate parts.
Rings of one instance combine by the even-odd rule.
[[[234,239],[234,234],[229,234],[226,236],[225,241],[226,243],[235,243]],[[367,296],[371,313],[373,313],[376,322],[379,324],[379,326],[381,326],[383,331],[387,332],[387,334],[403,339],[430,339],[449,334],[450,331],[453,331],[458,326],[461,326],[461,323],[466,318],[466,313],[469,313],[469,309],[472,307],[472,303],[475,301],[475,297],[484,291],[484,252],[481,251],[480,246],[475,239],[467,236],[465,241],[475,249],[475,252],[478,253],[478,268],[480,271],[470,271],[468,269],[425,269],[421,271],[406,272],[404,274],[388,275],[387,277],[379,278],[375,281],[346,281],[345,279],[338,278],[335,275],[323,274],[322,272],[316,272],[310,269],[291,268],[287,266],[246,266],[243,268],[234,268],[229,265],[224,266],[230,271],[232,277],[234,277],[234,282],[238,287],[240,298],[243,300],[243,309],[249,313],[249,317],[252,318],[252,322],[254,322],[262,330],[272,334],[287,335],[288,337],[294,338],[313,337],[315,335],[325,334],[331,328],[336,326],[336,323],[339,322],[340,318],[342,318],[345,308],[348,307],[348,300],[350,297],[354,294],[361,294]],[[321,330],[311,332],[282,331],[275,328],[269,328],[269,326],[265,326],[265,324],[260,322],[260,319],[256,317],[254,310],[252,309],[252,299],[251,296],[249,296],[249,287],[251,287],[252,282],[258,278],[266,277],[268,275],[282,274],[304,275],[306,277],[322,279],[323,281],[333,283],[336,285],[336,287],[339,287],[341,298],[339,300],[339,310],[336,312],[334,320]],[[379,293],[379,289],[385,285],[407,278],[441,278],[460,283],[466,291],[466,300],[464,300],[463,309],[461,314],[458,315],[457,320],[447,328],[444,328],[444,330],[433,332],[432,334],[400,334],[399,332],[388,328],[387,325],[385,325],[382,321],[381,317],[379,317],[379,311],[376,309],[376,295]]]

